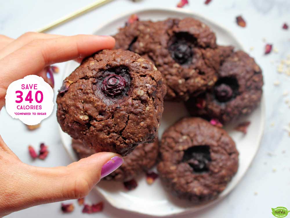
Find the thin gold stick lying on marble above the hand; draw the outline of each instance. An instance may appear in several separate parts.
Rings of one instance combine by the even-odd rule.
[[[43,27],[43,28],[40,28],[37,30],[38,33],[44,33],[52,28],[55,28],[57,26],[59,26],[60,24],[63,24],[65,22],[68,22],[72,19],[74,19],[75,17],[78,17],[80,15],[83,15],[85,14],[86,12],[90,11],[90,10],[93,10],[95,8],[98,8],[110,1],[113,1],[113,0],[98,0],[98,1],[95,1],[94,3],[91,3],[87,6],[85,6],[84,8],[81,8],[79,10],[76,10],[75,12],[69,14],[69,15],[66,15],[64,17],[61,17],[59,19],[57,19],[56,21],[48,24],[47,26]]]

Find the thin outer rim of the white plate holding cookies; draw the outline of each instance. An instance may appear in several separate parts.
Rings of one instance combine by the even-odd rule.
[[[207,20],[209,22],[211,22],[212,24],[214,24],[215,26],[218,26],[220,27],[223,31],[226,32],[226,34],[228,34],[229,36],[231,36],[235,41],[236,43],[240,46],[240,48],[242,50],[245,51],[245,48],[244,46],[242,45],[242,43],[240,42],[240,40],[235,36],[235,34],[233,34],[227,27],[225,27],[223,24],[219,24],[217,22],[215,22],[214,20],[210,19],[210,18],[207,18],[207,17],[204,17],[203,15],[201,15],[200,13],[198,12],[193,12],[191,10],[188,10],[188,9],[184,9],[184,8],[163,8],[163,7],[146,7],[146,8],[142,8],[142,9],[137,9],[137,10],[130,10],[130,11],[127,11],[127,12],[124,12],[124,13],[121,13],[119,15],[115,15],[113,16],[111,19],[109,19],[107,22],[103,22],[102,24],[100,24],[96,29],[95,31],[93,31],[93,34],[95,32],[97,32],[99,29],[105,27],[106,25],[114,22],[115,20],[117,19],[120,19],[120,18],[123,18],[123,17],[126,17],[126,16],[129,16],[131,14],[138,14],[140,12],[148,12],[148,11],[165,11],[165,12],[177,12],[177,13],[183,13],[185,15],[189,15],[189,16],[195,16],[195,17],[199,17],[201,19],[204,19],[204,20]],[[68,68],[68,66],[70,65],[72,61],[69,61],[66,63],[65,65],[65,69]],[[65,71],[64,71],[65,72]],[[65,75],[62,76],[62,78],[64,79],[65,78]],[[258,153],[258,150],[260,149],[260,145],[261,145],[261,142],[262,142],[262,137],[263,137],[263,134],[264,134],[264,129],[265,129],[265,98],[264,98],[264,92],[262,94],[262,98],[261,98],[261,102],[260,102],[260,106],[261,107],[261,122],[260,122],[260,131],[259,131],[259,135],[258,135],[258,146],[257,146],[257,149],[255,150],[255,153],[254,153],[254,156],[252,158],[252,160],[250,161],[247,169],[245,170],[245,173],[238,179],[236,185],[231,189],[229,190],[226,194],[224,194],[223,196],[221,196],[220,198],[218,199],[215,199],[213,201],[210,201],[204,205],[200,205],[200,206],[195,206],[195,207],[200,207],[200,210],[206,208],[206,207],[209,207],[217,202],[219,202],[220,200],[224,199],[224,197],[226,197],[239,183],[240,181],[244,178],[246,172],[249,170],[249,167],[251,166],[253,160],[255,159],[255,156],[257,155]],[[58,128],[59,128],[59,132],[63,132],[61,130],[61,127],[60,125],[58,125]],[[63,140],[63,137],[61,137],[61,143],[63,145],[63,147],[65,148],[66,150],[66,153],[68,153],[68,156],[70,157],[70,159],[72,161],[75,161],[75,157],[71,156],[70,152],[68,151],[67,147],[65,146],[65,143],[64,143],[64,140]],[[112,199],[110,196],[108,196],[105,191],[103,191],[101,188],[99,188],[97,185],[93,188],[93,190],[97,191],[98,194],[103,197],[108,203],[110,203],[111,206],[119,209],[119,210],[124,210],[126,212],[131,212],[133,214],[138,214],[138,215],[149,215],[149,216],[154,216],[154,217],[166,217],[166,216],[172,216],[172,215],[184,215],[184,214],[189,214],[189,213],[194,213],[196,211],[193,211],[192,208],[194,207],[190,207],[190,208],[185,208],[184,211],[182,212],[171,212],[171,213],[166,213],[166,214],[154,214],[154,213],[144,213],[144,212],[139,212],[138,210],[135,210],[134,208],[131,208],[131,207],[128,207],[128,208],[124,208],[122,206],[119,206],[117,204],[117,202],[114,201],[114,199]]]

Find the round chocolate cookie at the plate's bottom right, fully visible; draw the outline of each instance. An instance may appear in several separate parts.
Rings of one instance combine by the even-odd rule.
[[[208,121],[188,117],[162,135],[157,165],[166,187],[194,204],[215,199],[238,170],[235,142]]]

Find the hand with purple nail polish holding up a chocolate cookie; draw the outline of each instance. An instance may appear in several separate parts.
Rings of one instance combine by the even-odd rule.
[[[29,74],[46,77],[50,64],[81,60],[114,44],[109,36],[25,33],[13,40],[0,35],[0,110],[13,81]],[[101,152],[66,167],[33,167],[21,162],[0,136],[0,217],[38,204],[82,198],[122,163],[119,155]]]

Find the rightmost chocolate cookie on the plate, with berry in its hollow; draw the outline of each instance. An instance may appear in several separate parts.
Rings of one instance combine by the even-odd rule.
[[[234,52],[218,74],[219,79],[211,90],[186,102],[191,115],[226,123],[258,106],[262,97],[262,71],[247,53]]]

